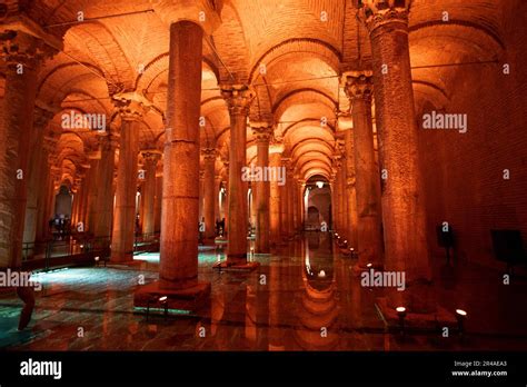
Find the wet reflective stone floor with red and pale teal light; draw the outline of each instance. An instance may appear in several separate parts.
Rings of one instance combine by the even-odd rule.
[[[527,279],[467,262],[435,260],[435,291],[448,310],[468,311],[466,334],[387,331],[376,306],[382,289],[360,287],[354,260],[327,234],[309,234],[257,255],[251,274],[212,269],[223,247],[201,248],[199,276],[212,285],[207,312],[165,319],[133,308],[140,280],[157,278],[159,255],[137,265],[70,268],[39,275],[33,320],[17,331],[21,301],[0,296],[0,348],[16,350],[525,350]]]

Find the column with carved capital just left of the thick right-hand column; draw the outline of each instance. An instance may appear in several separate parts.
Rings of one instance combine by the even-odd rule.
[[[342,85],[351,105],[357,191],[357,246],[359,267],[381,264],[379,170],[375,160],[371,120],[371,72],[347,72]]]

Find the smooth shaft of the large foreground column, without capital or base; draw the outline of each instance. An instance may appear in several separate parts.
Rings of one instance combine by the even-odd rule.
[[[159,286],[198,286],[199,111],[203,30],[170,26]]]

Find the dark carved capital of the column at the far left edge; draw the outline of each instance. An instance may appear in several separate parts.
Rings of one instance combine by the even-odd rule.
[[[37,69],[42,61],[57,53],[57,49],[34,34],[14,29],[0,30],[0,58],[8,62],[8,67],[21,63]]]

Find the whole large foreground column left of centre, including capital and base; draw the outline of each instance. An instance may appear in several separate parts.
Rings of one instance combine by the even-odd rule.
[[[210,284],[198,281],[199,117],[203,31],[220,22],[209,1],[152,1],[170,26],[167,128],[163,149],[159,281],[140,287],[136,306],[163,294],[168,308],[198,310]],[[198,19],[199,18],[199,19]]]

